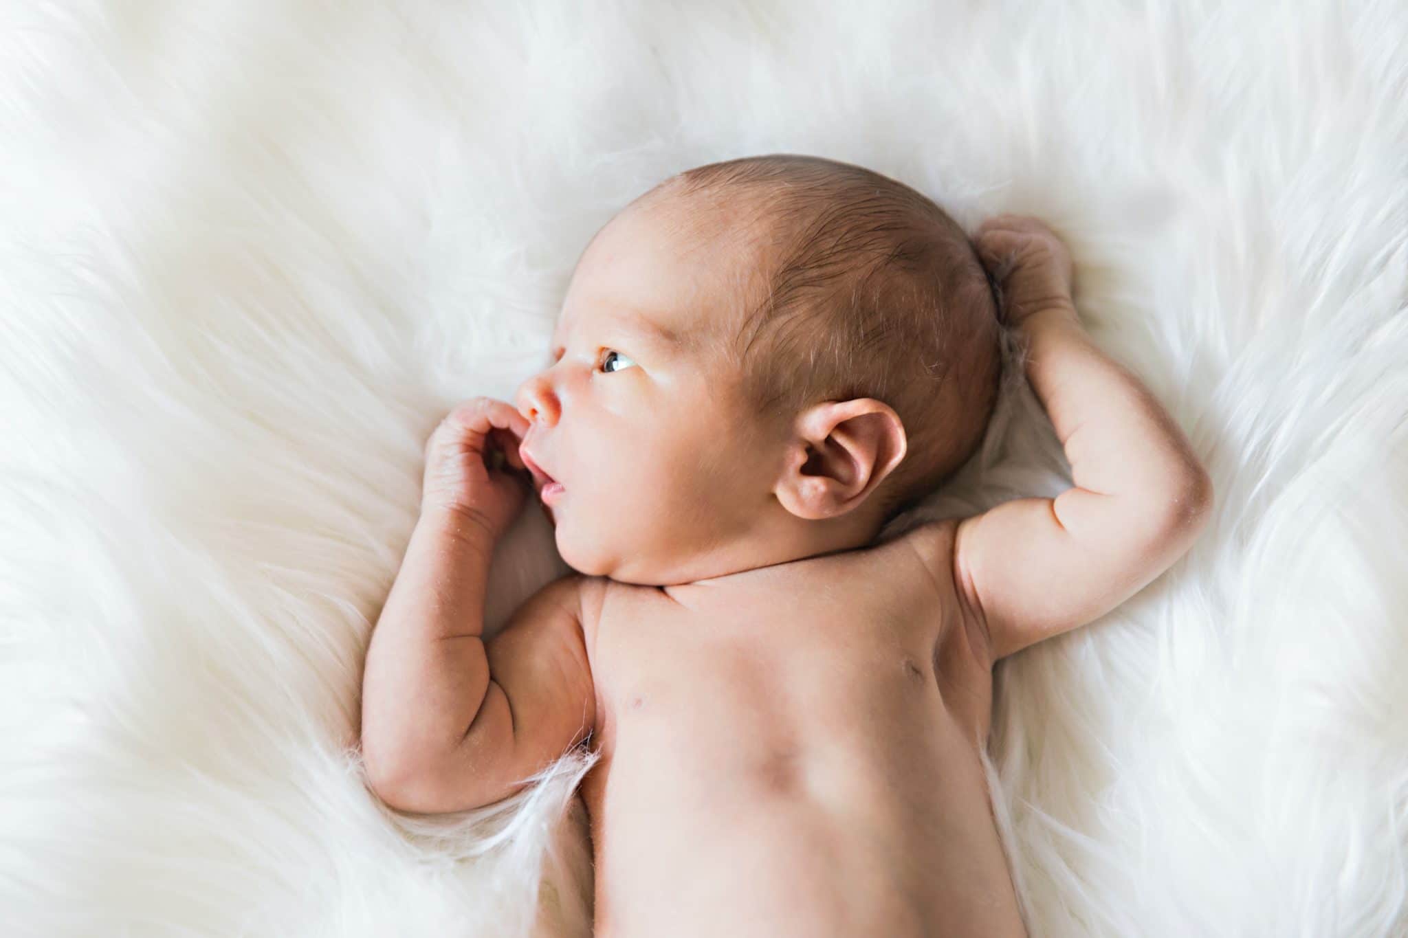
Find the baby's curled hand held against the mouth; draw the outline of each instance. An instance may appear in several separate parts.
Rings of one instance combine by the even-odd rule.
[[[470,398],[441,420],[425,442],[421,513],[458,512],[497,540],[532,489],[518,446],[528,420],[518,408],[493,398]],[[513,474],[504,463],[520,470]]]

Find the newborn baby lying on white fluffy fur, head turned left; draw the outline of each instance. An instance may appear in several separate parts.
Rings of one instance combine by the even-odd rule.
[[[428,440],[366,661],[377,796],[489,804],[589,743],[598,935],[1025,934],[979,757],[993,664],[1129,598],[1212,499],[1071,278],[1035,219],[970,243],[817,158],[634,201],[577,263],[553,364]],[[1074,487],[876,543],[979,446],[1002,322]],[[484,641],[534,489],[577,572]]]

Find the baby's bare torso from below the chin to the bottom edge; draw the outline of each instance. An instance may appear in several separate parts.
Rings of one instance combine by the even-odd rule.
[[[1024,934],[977,754],[990,654],[934,572],[953,527],[583,581],[594,934]]]

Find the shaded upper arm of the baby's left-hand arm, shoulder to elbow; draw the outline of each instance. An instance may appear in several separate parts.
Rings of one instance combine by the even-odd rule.
[[[414,810],[491,804],[560,758],[596,723],[582,629],[583,584],[567,575],[529,596],[484,643],[489,689],[465,738],[417,785]]]

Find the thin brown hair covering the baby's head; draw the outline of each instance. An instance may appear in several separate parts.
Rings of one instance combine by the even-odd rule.
[[[908,451],[876,491],[884,520],[972,456],[998,394],[997,295],[967,235],[932,200],[865,167],[793,153],[700,166],[650,194],[752,197],[767,259],[760,298],[718,350],[758,413],[790,420],[850,398],[895,411]]]

